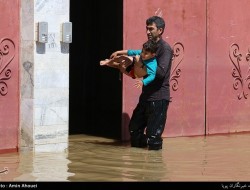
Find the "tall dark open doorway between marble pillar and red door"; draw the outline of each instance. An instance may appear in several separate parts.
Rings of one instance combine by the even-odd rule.
[[[122,77],[99,61],[123,48],[123,0],[70,1],[69,134],[121,139]]]

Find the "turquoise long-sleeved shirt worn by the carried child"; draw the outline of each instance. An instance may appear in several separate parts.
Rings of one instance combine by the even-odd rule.
[[[140,55],[141,54],[141,50],[128,50],[128,56],[136,56],[136,55]],[[146,86],[148,85],[150,82],[152,82],[155,79],[155,75],[156,75],[156,69],[157,69],[157,61],[156,58],[153,57],[151,59],[148,60],[142,60],[143,65],[146,66],[147,69],[147,75],[143,77],[143,85]]]

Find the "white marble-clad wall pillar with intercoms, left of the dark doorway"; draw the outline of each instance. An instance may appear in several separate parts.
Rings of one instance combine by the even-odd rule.
[[[69,44],[61,24],[69,0],[22,0],[21,148],[62,151],[68,147]],[[48,42],[37,42],[37,23],[48,23]]]

